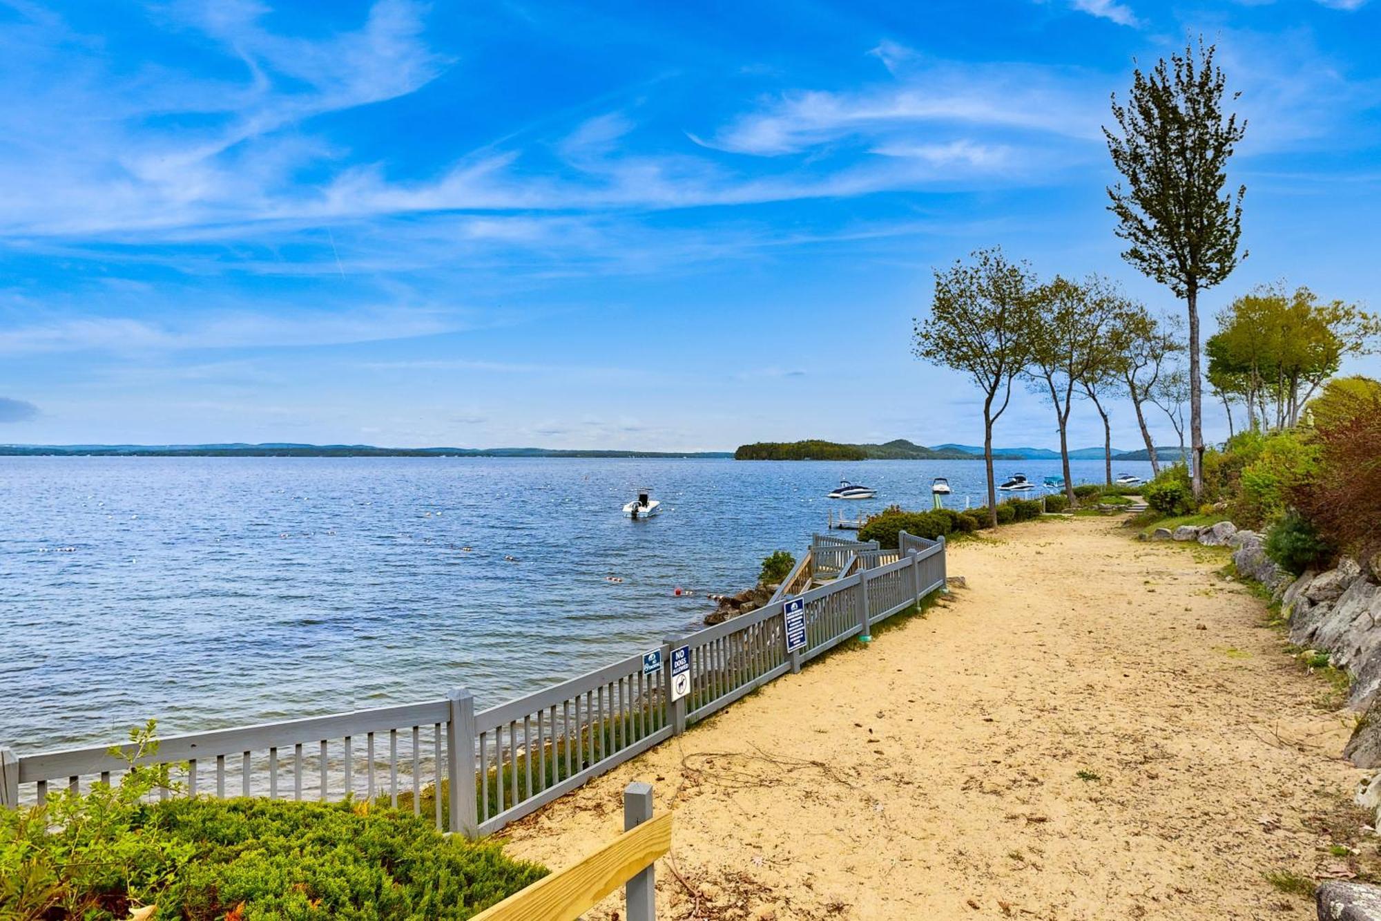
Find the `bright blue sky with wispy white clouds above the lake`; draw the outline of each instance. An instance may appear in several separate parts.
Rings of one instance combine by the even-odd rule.
[[[1206,314],[1367,301],[1381,3],[0,0],[0,441],[975,441],[910,357],[932,267],[1178,310],[1099,127],[1200,32],[1251,253]],[[1055,444],[1032,396],[1000,426]]]

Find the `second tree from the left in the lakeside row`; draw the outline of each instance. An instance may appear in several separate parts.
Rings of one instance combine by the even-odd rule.
[[[1116,317],[1116,303],[1112,289],[1097,277],[1073,282],[1056,275],[1034,292],[1033,308],[1027,314],[1030,357],[1025,373],[1033,389],[1050,398],[1055,408],[1065,495],[1072,503],[1074,478],[1069,470],[1069,412],[1076,390],[1105,362],[1105,339]]]

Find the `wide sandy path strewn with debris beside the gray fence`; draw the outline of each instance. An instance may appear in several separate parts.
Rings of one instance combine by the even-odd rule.
[[[697,891],[659,863],[659,917],[1313,917],[1265,873],[1330,866],[1360,772],[1224,563],[1108,519],[957,546],[950,603],[552,803],[510,850],[574,862],[645,780]]]

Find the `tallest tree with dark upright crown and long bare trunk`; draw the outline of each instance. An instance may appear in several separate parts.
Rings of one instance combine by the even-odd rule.
[[[1228,189],[1228,162],[1247,123],[1225,108],[1226,79],[1214,46],[1199,40],[1184,55],[1138,68],[1127,105],[1112,101],[1117,131],[1105,127],[1108,152],[1126,180],[1108,189],[1123,259],[1185,300],[1189,315],[1189,430],[1193,491],[1203,494],[1203,386],[1199,369],[1199,292],[1224,281],[1237,253],[1246,185]]]

